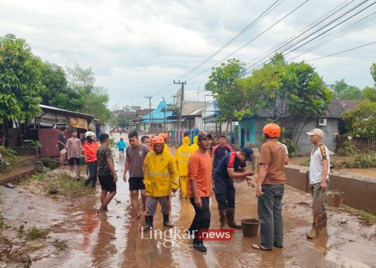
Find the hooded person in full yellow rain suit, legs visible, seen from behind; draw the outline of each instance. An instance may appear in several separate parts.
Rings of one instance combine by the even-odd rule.
[[[192,155],[192,150],[190,148],[190,138],[185,136],[183,138],[183,144],[177,148],[175,159],[177,165],[177,172],[179,174],[180,189],[183,198],[187,197],[187,175],[188,175],[188,160]]]

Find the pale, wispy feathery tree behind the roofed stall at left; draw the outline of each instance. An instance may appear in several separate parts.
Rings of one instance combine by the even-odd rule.
[[[95,75],[91,68],[82,68],[75,64],[73,68],[67,67],[68,85],[76,90],[82,98],[82,112],[90,113],[107,122],[112,113],[107,108],[109,100],[107,90],[104,87],[95,86]]]

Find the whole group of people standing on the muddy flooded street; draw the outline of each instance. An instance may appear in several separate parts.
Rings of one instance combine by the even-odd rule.
[[[90,132],[90,131],[89,131]],[[94,134],[94,133],[93,133]],[[211,222],[210,196],[214,190],[218,203],[220,227],[226,223],[231,228],[241,228],[235,221],[235,187],[234,179],[246,180],[248,185],[256,187],[258,197],[258,218],[260,220],[260,241],[252,247],[271,250],[273,247],[283,247],[283,217],[282,198],[286,180],[284,165],[288,164],[287,147],[278,141],[281,128],[275,123],[269,123],[263,128],[264,143],[261,146],[258,174],[252,183],[254,170],[247,169],[247,161],[253,161],[253,150],[250,147],[233,151],[226,143],[226,137],[220,136],[219,143],[213,144],[213,136],[200,132],[191,140],[189,133],[185,134],[182,145],[177,148],[175,157],[170,153],[166,144],[165,133],[153,138],[143,136],[141,141],[136,131],[128,134],[130,146],[126,147],[123,138],[117,143],[122,153],[125,149],[125,167],[123,180],[129,182],[131,203],[136,218],[141,217],[139,195],[143,205],[145,225],[142,231],[153,228],[153,217],[159,202],[163,215],[163,225],[171,227],[169,213],[171,208],[170,193],[179,189],[183,198],[190,198],[195,210],[195,217],[187,230],[193,236],[193,246],[199,251],[207,251],[203,241],[199,239],[199,230],[208,229]],[[315,148],[311,153],[310,183],[312,186],[313,205],[318,195],[322,196],[320,212],[314,217],[312,231],[308,238],[314,238],[318,230],[326,225],[325,196],[328,181],[329,154],[322,144],[323,132],[313,129],[307,132]],[[95,136],[95,135],[94,135]],[[109,148],[108,134],[100,135],[100,147],[91,133],[86,133],[83,149],[85,160],[89,166],[89,178],[95,187],[98,173],[101,184],[101,206],[98,212],[107,210],[107,205],[116,194],[117,175],[113,165],[112,152]],[[75,138],[72,132],[72,138]],[[60,137],[59,137],[60,140]],[[68,140],[69,141],[69,140]],[[68,142],[76,144],[75,140]],[[77,143],[78,144],[78,143]],[[69,154],[71,156],[74,154]],[[75,156],[75,155],[73,155]],[[76,158],[76,157],[73,157]],[[75,162],[70,161],[71,162]],[[96,173],[97,172],[97,173]],[[129,173],[129,178],[127,177]],[[214,185],[213,185],[214,183]]]

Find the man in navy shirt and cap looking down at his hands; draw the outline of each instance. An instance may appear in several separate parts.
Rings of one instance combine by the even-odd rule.
[[[227,225],[229,227],[241,229],[242,226],[237,224],[235,218],[235,187],[233,178],[247,179],[248,185],[251,183],[251,178],[255,172],[247,170],[247,160],[252,159],[253,150],[250,147],[241,148],[240,151],[233,151],[227,153],[220,163],[214,169],[214,192],[218,202],[218,210],[220,214],[221,228]],[[239,172],[240,168],[240,172]]]

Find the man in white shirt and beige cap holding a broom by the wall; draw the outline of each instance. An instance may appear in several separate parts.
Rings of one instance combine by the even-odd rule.
[[[310,132],[307,132],[307,134],[310,136],[309,139],[314,145],[309,163],[309,184],[311,185],[312,190],[313,207],[322,191],[320,209],[317,214],[313,215],[312,230],[306,234],[308,238],[314,238],[318,235],[319,229],[326,226],[327,215],[325,212],[325,201],[327,195],[326,190],[329,185],[330,159],[329,150],[322,143],[324,132],[319,128],[315,128]]]

